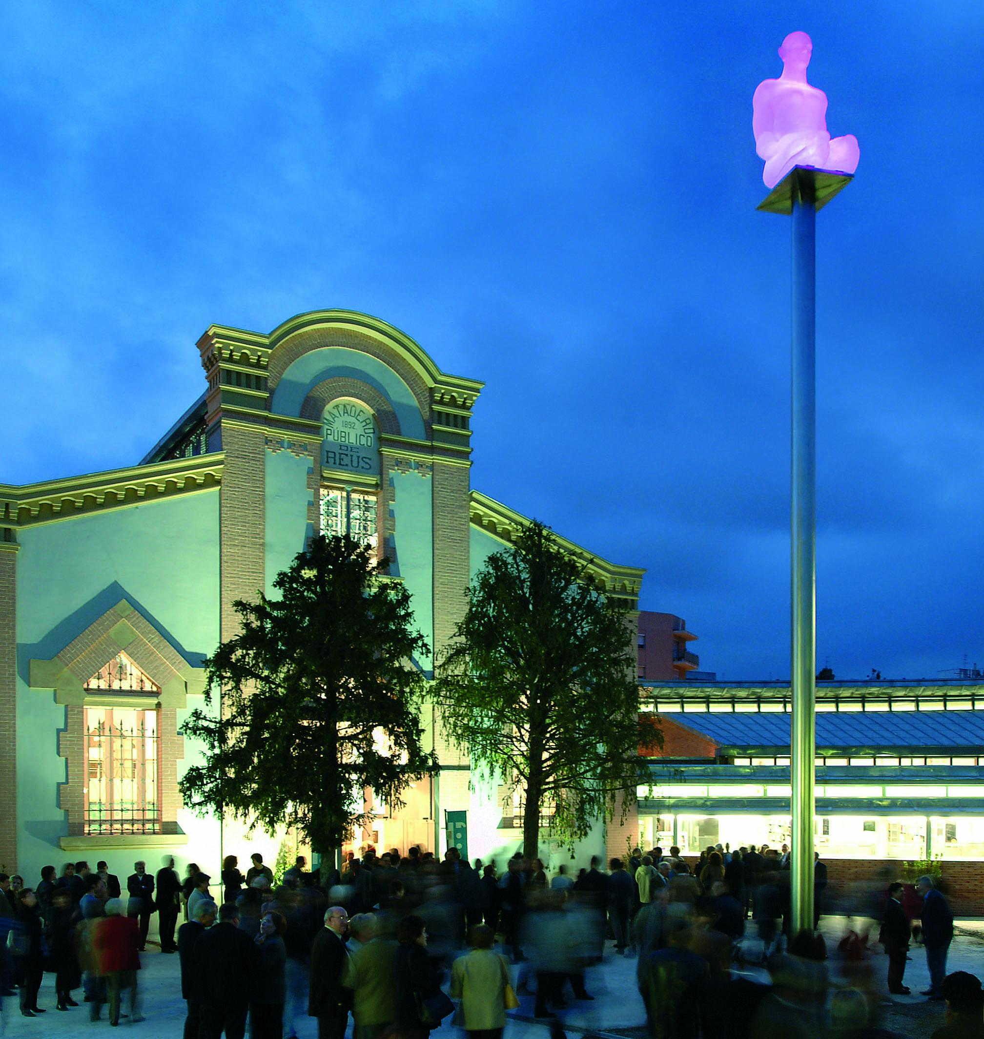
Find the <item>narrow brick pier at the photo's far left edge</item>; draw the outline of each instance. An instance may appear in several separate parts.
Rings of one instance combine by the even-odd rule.
[[[0,530],[0,537],[7,534]],[[0,869],[17,867],[17,545],[0,541]]]

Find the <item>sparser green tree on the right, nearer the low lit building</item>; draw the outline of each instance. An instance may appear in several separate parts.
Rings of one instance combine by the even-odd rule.
[[[573,842],[610,819],[619,795],[626,810],[645,776],[640,743],[662,745],[640,721],[634,635],[629,611],[542,524],[475,578],[434,694],[448,736],[522,790],[527,855],[537,854],[541,815]]]

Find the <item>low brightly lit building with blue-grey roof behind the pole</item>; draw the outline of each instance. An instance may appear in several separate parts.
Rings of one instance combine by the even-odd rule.
[[[688,856],[789,843],[789,684],[640,687],[664,744],[644,750],[638,840]],[[984,682],[818,683],[816,765],[816,847],[832,878],[939,859],[984,906]]]

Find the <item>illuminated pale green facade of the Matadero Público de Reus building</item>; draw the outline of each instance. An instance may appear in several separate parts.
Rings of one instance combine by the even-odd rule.
[[[270,593],[312,534],[345,532],[390,557],[440,649],[472,577],[527,523],[471,487],[482,384],[385,322],[323,311],[269,335],[213,325],[197,346],[206,391],[139,464],[0,485],[0,870],[106,858],[118,873],[166,853],[214,876],[252,850],[272,863],[282,834],[196,818],[178,795],[201,760],[181,724],[204,658],[237,631],[233,602]],[[642,570],[561,543],[635,605]],[[441,775],[397,816],[375,805],[355,844],[440,851],[454,810],[472,855],[511,851],[500,792],[473,789],[468,757],[433,711],[424,721]],[[602,830],[590,841],[602,850]]]

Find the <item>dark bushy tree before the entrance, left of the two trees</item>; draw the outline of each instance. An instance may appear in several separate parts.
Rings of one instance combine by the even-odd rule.
[[[181,781],[194,810],[271,833],[296,826],[330,864],[368,822],[364,788],[402,805],[432,765],[413,664],[427,644],[387,567],[348,537],[316,537],[273,582],[278,598],[234,604],[242,631],[206,662],[206,701],[218,710],[184,724],[206,748]]]

